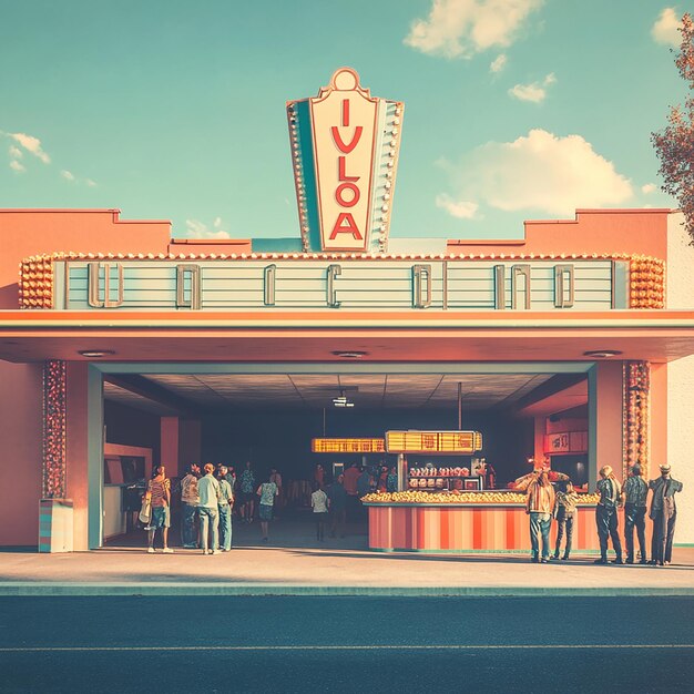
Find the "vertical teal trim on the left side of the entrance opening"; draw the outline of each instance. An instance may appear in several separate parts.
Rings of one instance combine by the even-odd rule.
[[[94,550],[103,542],[103,377],[94,364],[86,371],[86,411],[88,545]]]

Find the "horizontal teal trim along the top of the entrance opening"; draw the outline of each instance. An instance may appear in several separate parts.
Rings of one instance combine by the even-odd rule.
[[[497,364],[190,364],[118,363],[92,364],[102,374],[584,374],[594,366],[585,361],[538,361]],[[589,381],[590,384],[590,381]]]

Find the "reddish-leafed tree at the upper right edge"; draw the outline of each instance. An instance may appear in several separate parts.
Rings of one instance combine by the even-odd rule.
[[[688,12],[680,31],[682,44],[675,64],[690,93],[684,105],[670,108],[667,126],[652,133],[651,141],[661,160],[662,190],[680,203],[690,244],[694,245],[694,20]]]

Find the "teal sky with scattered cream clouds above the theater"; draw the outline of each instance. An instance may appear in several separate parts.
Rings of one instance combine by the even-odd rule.
[[[298,237],[285,102],[405,102],[391,237],[675,207],[650,133],[694,0],[0,0],[0,207]]]

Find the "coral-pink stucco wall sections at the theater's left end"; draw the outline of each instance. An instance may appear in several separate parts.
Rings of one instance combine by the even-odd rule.
[[[0,210],[0,310],[18,308],[19,263],[30,255],[169,252],[170,222],[121,221],[119,215],[118,210]],[[75,549],[86,549],[85,368],[85,364],[70,364],[68,372],[68,497],[74,501]],[[41,365],[0,361],[0,463],[13,490],[0,504],[2,545],[38,542],[41,382]]]

